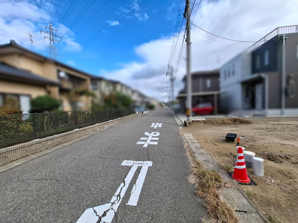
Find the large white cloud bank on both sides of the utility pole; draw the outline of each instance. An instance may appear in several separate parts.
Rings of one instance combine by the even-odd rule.
[[[197,2],[194,10],[198,6]],[[202,1],[193,23],[219,36],[236,40],[257,41],[278,26],[296,24],[297,8],[298,1],[296,0],[287,0],[282,5],[271,0]],[[281,11],[283,16],[280,16]],[[136,18],[140,16],[140,12],[135,15]],[[181,30],[178,46],[182,43],[183,34],[184,27]],[[195,26],[192,26],[191,42],[192,71],[218,68],[252,45],[252,43],[224,40]],[[170,58],[170,65],[173,66],[176,75],[174,87],[177,95],[182,88],[181,79],[186,73],[186,46],[183,46],[181,51],[181,47],[172,47],[172,43],[173,35],[143,43],[135,48],[135,54],[143,62],[131,61],[124,64],[119,70],[101,70],[100,75],[122,81],[148,96],[162,100],[167,62]],[[178,65],[180,53],[182,56]]]

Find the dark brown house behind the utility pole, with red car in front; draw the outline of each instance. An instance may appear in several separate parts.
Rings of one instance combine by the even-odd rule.
[[[184,88],[178,93],[180,107],[185,111],[186,107],[186,75],[183,77]],[[201,103],[212,103],[217,113],[219,106],[219,70],[198,71],[191,74],[192,106]]]

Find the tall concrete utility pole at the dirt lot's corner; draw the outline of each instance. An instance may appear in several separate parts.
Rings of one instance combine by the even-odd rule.
[[[192,95],[191,95],[191,71],[190,71],[190,0],[186,0],[186,120],[191,122]],[[185,15],[185,14],[184,14]]]

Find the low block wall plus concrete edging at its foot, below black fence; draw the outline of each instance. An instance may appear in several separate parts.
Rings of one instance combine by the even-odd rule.
[[[11,161],[8,161],[7,163],[4,163],[3,160],[1,161],[2,165],[0,166],[0,172],[6,169],[10,169],[11,167],[15,167],[21,163],[27,162],[38,156],[42,156],[46,153],[50,153],[54,150],[60,149],[66,145],[70,145],[81,139],[85,139],[89,136],[99,133],[100,131],[104,131],[105,129],[111,128],[115,125],[121,124],[140,115],[142,114],[133,114],[125,117],[120,117],[103,123],[98,123],[54,136],[49,136],[37,141],[25,142],[2,149],[0,150],[0,155],[2,155],[0,157],[3,157],[5,161],[7,160],[6,156],[9,156],[9,154],[16,155],[11,156]],[[26,147],[28,148],[28,151],[26,151]],[[17,154],[18,152],[16,150],[20,151],[20,154]],[[6,156],[4,155],[5,153],[7,154]]]

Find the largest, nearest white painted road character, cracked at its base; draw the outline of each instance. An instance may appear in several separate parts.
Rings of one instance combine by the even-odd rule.
[[[114,215],[124,197],[124,194],[133,178],[136,169],[139,166],[142,166],[140,174],[136,180],[136,184],[131,191],[131,197],[128,200],[127,205],[136,206],[139,195],[141,193],[141,189],[147,174],[148,167],[152,166],[152,161],[133,161],[133,160],[124,160],[121,164],[122,166],[131,166],[130,171],[125,177],[124,181],[118,187],[116,193],[112,197],[109,203],[96,206],[94,208],[88,208],[82,216],[77,220],[77,223],[97,223],[100,219],[101,223],[111,223]]]

